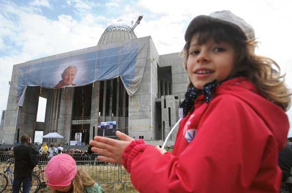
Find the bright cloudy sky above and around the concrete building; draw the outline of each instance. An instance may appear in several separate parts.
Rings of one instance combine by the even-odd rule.
[[[231,10],[254,27],[256,53],[274,59],[291,88],[291,7],[291,0],[0,0],[0,110],[6,109],[13,65],[96,46],[110,24],[131,26],[140,15],[135,34],[151,35],[158,53],[166,54],[182,51],[192,18]],[[44,112],[45,100],[39,106]],[[292,108],[287,114],[292,123]]]

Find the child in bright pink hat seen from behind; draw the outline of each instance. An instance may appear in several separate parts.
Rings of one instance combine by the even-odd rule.
[[[45,174],[46,184],[54,193],[104,193],[90,175],[77,169],[75,160],[68,154],[58,154],[51,158]]]

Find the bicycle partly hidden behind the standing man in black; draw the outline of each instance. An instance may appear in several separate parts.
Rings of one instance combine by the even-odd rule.
[[[13,177],[12,177],[13,171],[10,168],[12,163],[10,160],[7,160],[7,163],[9,163],[9,166],[7,167],[7,169],[4,172],[0,173],[0,193],[4,192],[4,190],[6,190],[8,186],[8,177],[5,175],[5,173],[8,174],[11,184],[13,184]],[[39,189],[39,179],[37,175],[32,174],[30,192],[37,193],[38,189]],[[21,188],[20,188],[20,193],[22,193]]]

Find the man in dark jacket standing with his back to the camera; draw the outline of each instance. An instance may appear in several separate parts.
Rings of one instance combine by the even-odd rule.
[[[32,181],[31,156],[38,155],[38,151],[31,145],[31,139],[24,134],[20,138],[20,144],[14,147],[14,180],[12,191],[19,193],[22,182],[22,193],[29,193]]]

